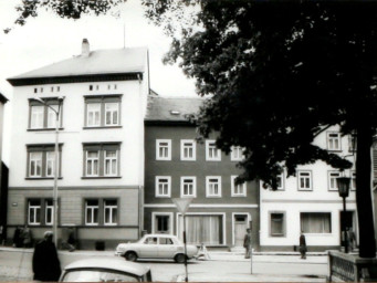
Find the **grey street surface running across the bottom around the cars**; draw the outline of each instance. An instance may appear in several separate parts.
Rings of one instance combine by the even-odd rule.
[[[62,268],[85,258],[115,256],[113,252],[60,251]],[[0,250],[0,281],[32,280],[32,249]],[[151,269],[154,281],[185,281],[185,266],[172,261],[138,261]],[[241,254],[211,253],[209,261],[191,260],[188,264],[189,281],[207,282],[324,282],[327,272],[326,256],[308,256],[306,261],[296,255],[254,255],[253,274],[250,260]]]

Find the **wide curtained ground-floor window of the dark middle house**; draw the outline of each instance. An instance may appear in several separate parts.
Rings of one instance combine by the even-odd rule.
[[[223,244],[222,214],[213,216],[186,216],[186,237],[191,244],[205,243],[207,245]],[[179,217],[179,235],[182,235],[184,221]]]

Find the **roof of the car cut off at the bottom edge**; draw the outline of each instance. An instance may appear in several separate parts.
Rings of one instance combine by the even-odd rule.
[[[78,260],[64,268],[65,271],[75,269],[106,269],[132,273],[138,276],[142,276],[149,271],[149,268],[139,263],[127,262],[123,258],[92,258]]]

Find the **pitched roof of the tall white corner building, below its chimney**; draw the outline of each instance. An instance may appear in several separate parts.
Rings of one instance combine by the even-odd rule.
[[[13,77],[12,85],[19,81],[38,78],[62,78],[76,76],[96,76],[114,74],[144,73],[147,70],[147,48],[127,48],[118,50],[91,51],[87,56],[77,55]]]

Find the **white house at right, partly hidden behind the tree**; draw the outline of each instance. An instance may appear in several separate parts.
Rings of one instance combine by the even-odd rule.
[[[336,127],[316,137],[315,144],[346,157],[355,165],[353,139],[342,136]],[[336,178],[352,178],[347,212],[342,220],[343,200]],[[306,235],[308,251],[341,245],[341,223],[358,233],[355,200],[355,167],[341,172],[323,161],[300,166],[295,177],[280,177],[276,191],[261,184],[261,250],[291,250],[299,245],[300,232]],[[344,221],[344,222],[343,222]]]

